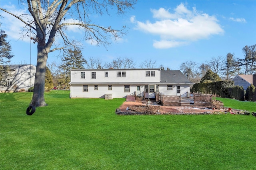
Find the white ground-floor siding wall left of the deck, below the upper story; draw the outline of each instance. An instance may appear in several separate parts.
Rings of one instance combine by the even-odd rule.
[[[130,92],[124,92],[124,85],[129,84],[111,84],[112,90],[108,90],[108,84],[96,84],[98,90],[94,90],[94,84],[84,85],[88,85],[88,92],[83,92],[83,84],[70,86],[70,98],[105,98],[105,94],[112,94],[112,98],[126,98],[136,91],[136,85],[130,85]]]

